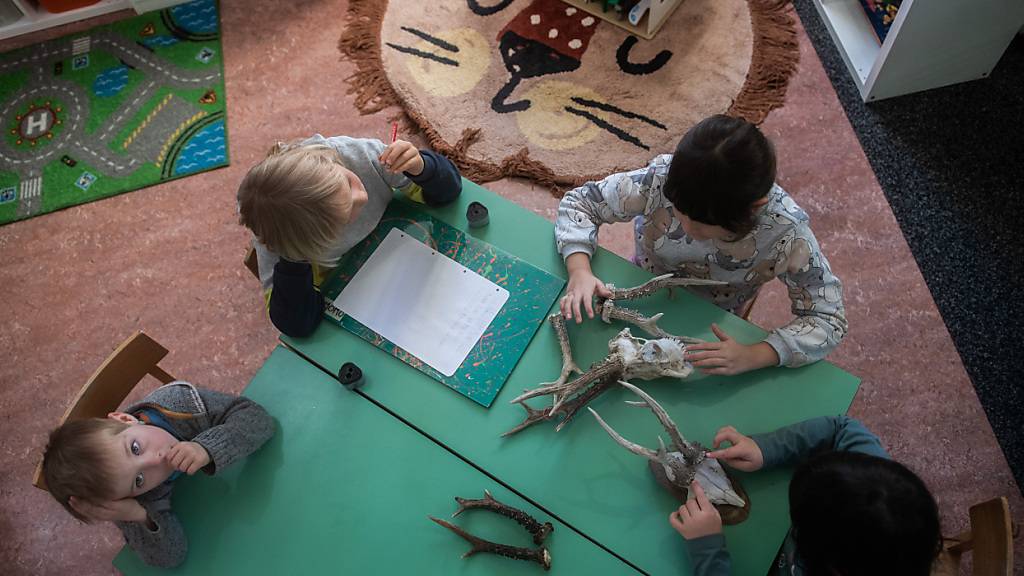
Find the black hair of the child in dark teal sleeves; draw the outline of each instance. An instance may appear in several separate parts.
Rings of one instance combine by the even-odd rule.
[[[808,576],[928,576],[942,543],[925,483],[899,462],[859,452],[801,464],[790,517]]]

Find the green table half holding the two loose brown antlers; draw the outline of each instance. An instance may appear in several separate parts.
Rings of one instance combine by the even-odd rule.
[[[246,396],[274,417],[276,434],[223,475],[178,481],[174,507],[188,534],[189,551],[172,572],[542,573],[536,564],[493,554],[462,560],[469,544],[427,519],[450,520],[496,542],[532,545],[526,531],[498,515],[469,510],[450,518],[455,496],[480,498],[487,489],[555,525],[546,541],[552,570],[636,574],[283,346],[270,355]],[[127,548],[114,564],[125,574],[165,572],[143,565]]]

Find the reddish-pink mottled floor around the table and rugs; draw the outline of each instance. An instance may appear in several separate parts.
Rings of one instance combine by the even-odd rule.
[[[0,286],[15,295],[0,312],[6,573],[116,573],[110,562],[122,544],[118,531],[75,522],[30,483],[49,428],[121,340],[145,330],[172,351],[162,363],[171,374],[229,392],[240,392],[274,346],[276,334],[242,265],[247,235],[237,224],[234,190],[275,140],[376,135],[386,126],[388,112],[360,117],[346,95],[351,67],[336,48],[345,6],[221,2],[230,167],[0,228]],[[71,30],[0,42],[0,50]],[[863,379],[850,412],[926,480],[945,533],[966,527],[971,503],[996,495],[1010,497],[1021,523],[1020,490],[804,34],[801,51],[786,106],[764,130],[779,151],[780,183],[811,214],[845,284],[851,332],[829,360]],[[546,190],[513,180],[488,188],[554,216],[556,200]],[[614,252],[628,254],[630,242],[627,227],[602,231],[602,245]],[[752,319],[770,327],[787,314],[784,291],[773,287]]]

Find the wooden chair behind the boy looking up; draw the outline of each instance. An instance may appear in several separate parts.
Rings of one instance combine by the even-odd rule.
[[[85,418],[103,418],[114,412],[128,398],[128,394],[146,374],[162,383],[174,377],[157,366],[167,356],[167,348],[142,332],[135,332],[106,358],[93,372],[71,406],[60,418],[60,424]],[[36,488],[46,490],[42,461],[36,466],[32,480]]]

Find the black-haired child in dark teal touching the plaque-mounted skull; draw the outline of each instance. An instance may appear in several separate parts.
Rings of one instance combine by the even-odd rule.
[[[723,443],[728,448],[718,449]],[[925,483],[889,459],[879,439],[846,416],[812,418],[746,437],[732,426],[709,456],[755,471],[799,464],[790,482],[793,529],[769,574],[928,576],[942,545],[939,510]],[[694,574],[731,573],[722,519],[695,498],[669,517],[686,539]]]

